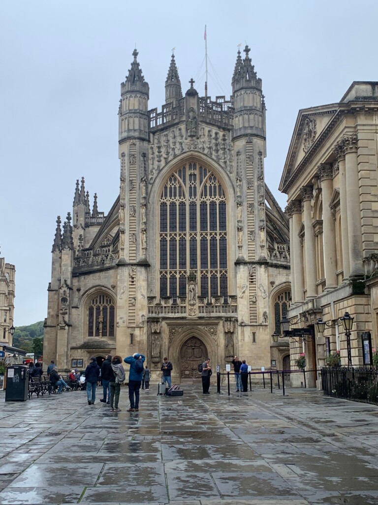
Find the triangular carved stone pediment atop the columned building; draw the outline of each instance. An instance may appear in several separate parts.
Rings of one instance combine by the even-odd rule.
[[[279,189],[287,193],[293,181],[323,145],[338,115],[338,104],[299,111],[291,137]]]

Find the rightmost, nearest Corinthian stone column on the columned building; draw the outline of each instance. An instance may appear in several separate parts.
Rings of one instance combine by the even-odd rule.
[[[350,275],[364,274],[362,262],[361,211],[357,167],[357,135],[343,137],[345,148],[345,179],[348,215]]]

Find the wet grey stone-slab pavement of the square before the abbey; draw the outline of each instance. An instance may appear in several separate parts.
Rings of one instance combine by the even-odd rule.
[[[127,388],[120,413],[85,391],[0,392],[0,505],[378,504],[378,407],[317,390],[183,389],[141,391],[139,413],[126,412]]]

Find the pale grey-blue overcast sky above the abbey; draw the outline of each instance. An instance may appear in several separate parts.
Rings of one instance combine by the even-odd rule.
[[[164,103],[172,47],[182,90],[229,95],[237,45],[251,47],[267,106],[266,181],[277,187],[299,109],[335,103],[354,80],[378,80],[378,3],[123,0],[0,1],[1,256],[16,265],[15,325],[47,315],[56,216],[76,179],[107,213],[119,187],[118,100],[135,46]],[[201,67],[202,65],[202,67]]]

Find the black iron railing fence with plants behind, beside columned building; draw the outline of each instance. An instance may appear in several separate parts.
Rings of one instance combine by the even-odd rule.
[[[378,405],[378,368],[326,367],[322,384],[325,395]]]

